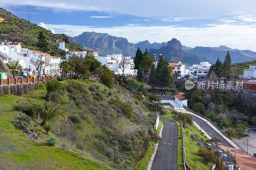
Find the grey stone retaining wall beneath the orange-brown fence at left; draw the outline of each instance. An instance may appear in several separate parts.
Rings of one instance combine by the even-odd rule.
[[[24,83],[24,84],[16,84],[16,85],[0,85],[0,96],[5,94],[12,94],[15,96],[20,96],[26,94],[31,90],[35,90],[38,86],[37,83]]]

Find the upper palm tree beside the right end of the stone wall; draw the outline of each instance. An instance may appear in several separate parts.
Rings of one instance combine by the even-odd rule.
[[[44,96],[46,101],[51,101],[51,93],[55,91],[65,91],[64,86],[60,81],[57,80],[52,80],[50,81],[50,78],[45,78],[44,80],[40,80],[41,82],[44,83],[44,86],[46,88],[47,94]]]

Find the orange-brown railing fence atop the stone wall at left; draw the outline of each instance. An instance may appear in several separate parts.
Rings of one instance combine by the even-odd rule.
[[[41,78],[8,78],[2,79],[0,78],[0,85],[12,85],[12,84],[23,84],[23,83],[35,83],[39,80],[48,79],[50,80],[57,79],[57,77],[41,77]],[[33,80],[34,79],[34,80]],[[39,80],[38,80],[39,79]]]

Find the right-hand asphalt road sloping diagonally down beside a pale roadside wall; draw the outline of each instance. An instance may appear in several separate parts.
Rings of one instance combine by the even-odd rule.
[[[228,141],[226,141],[226,139],[224,139],[220,134],[218,134],[215,130],[212,129],[211,126],[209,126],[206,122],[204,122],[203,120],[199,119],[198,117],[193,116],[193,120],[199,125],[201,126],[200,123],[202,123],[202,129],[204,129],[204,131],[210,136],[210,137],[218,137],[221,139],[221,144],[223,146],[227,146],[227,147],[231,147],[234,148],[234,146],[232,146],[231,144],[228,143]]]

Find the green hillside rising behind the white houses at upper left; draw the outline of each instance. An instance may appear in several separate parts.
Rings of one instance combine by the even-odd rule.
[[[51,31],[33,23],[30,23],[29,31],[29,22],[27,20],[18,18],[12,15],[11,12],[4,11],[2,8],[0,8],[0,17],[4,18],[4,21],[7,22],[0,23],[0,39],[2,41],[17,41],[21,42],[24,48],[37,49],[37,36],[38,33],[42,31],[49,42],[50,51],[48,51],[48,53],[52,55],[65,55],[62,50],[58,49],[59,41],[61,40],[66,42],[66,47],[69,47],[71,51],[75,49],[83,50],[81,46],[74,43],[71,38],[65,34],[53,34]]]

